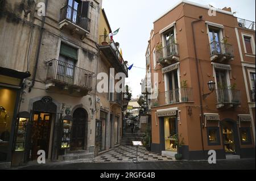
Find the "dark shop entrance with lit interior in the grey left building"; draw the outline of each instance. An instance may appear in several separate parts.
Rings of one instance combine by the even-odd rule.
[[[49,140],[51,135],[52,113],[35,112],[31,129],[31,159],[38,158],[38,150],[49,153]]]

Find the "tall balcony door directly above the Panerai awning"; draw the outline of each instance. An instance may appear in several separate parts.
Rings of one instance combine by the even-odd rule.
[[[167,103],[179,102],[179,83],[177,77],[177,70],[169,71],[167,73],[168,77],[168,89],[166,92]]]

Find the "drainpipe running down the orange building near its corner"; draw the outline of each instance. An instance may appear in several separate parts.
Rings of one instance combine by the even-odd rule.
[[[194,32],[194,24],[201,22],[203,16],[199,16],[199,20],[195,20],[191,23],[192,26],[192,34],[193,34],[193,44],[194,44],[194,50],[195,50],[195,58],[196,58],[196,73],[197,73],[197,82],[198,82],[198,88],[199,88],[199,98],[200,98],[200,112],[201,112],[201,116],[200,116],[200,132],[201,132],[201,142],[202,142],[202,149],[203,149],[203,153],[204,153],[204,157],[205,157],[205,150],[204,150],[204,139],[203,139],[203,100],[202,100],[202,94],[201,94],[201,85],[200,85],[200,78],[199,78],[199,66],[198,66],[198,58],[197,58],[197,52],[196,52],[196,41],[195,41],[195,32]]]

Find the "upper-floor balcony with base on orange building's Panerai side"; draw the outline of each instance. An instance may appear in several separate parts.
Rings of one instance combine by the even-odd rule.
[[[156,61],[162,66],[171,65],[172,61],[179,61],[178,44],[171,43],[166,47],[156,50]]]

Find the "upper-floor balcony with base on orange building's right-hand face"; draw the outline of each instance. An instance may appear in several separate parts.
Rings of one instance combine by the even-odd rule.
[[[234,60],[233,45],[213,41],[209,44],[210,61]]]

